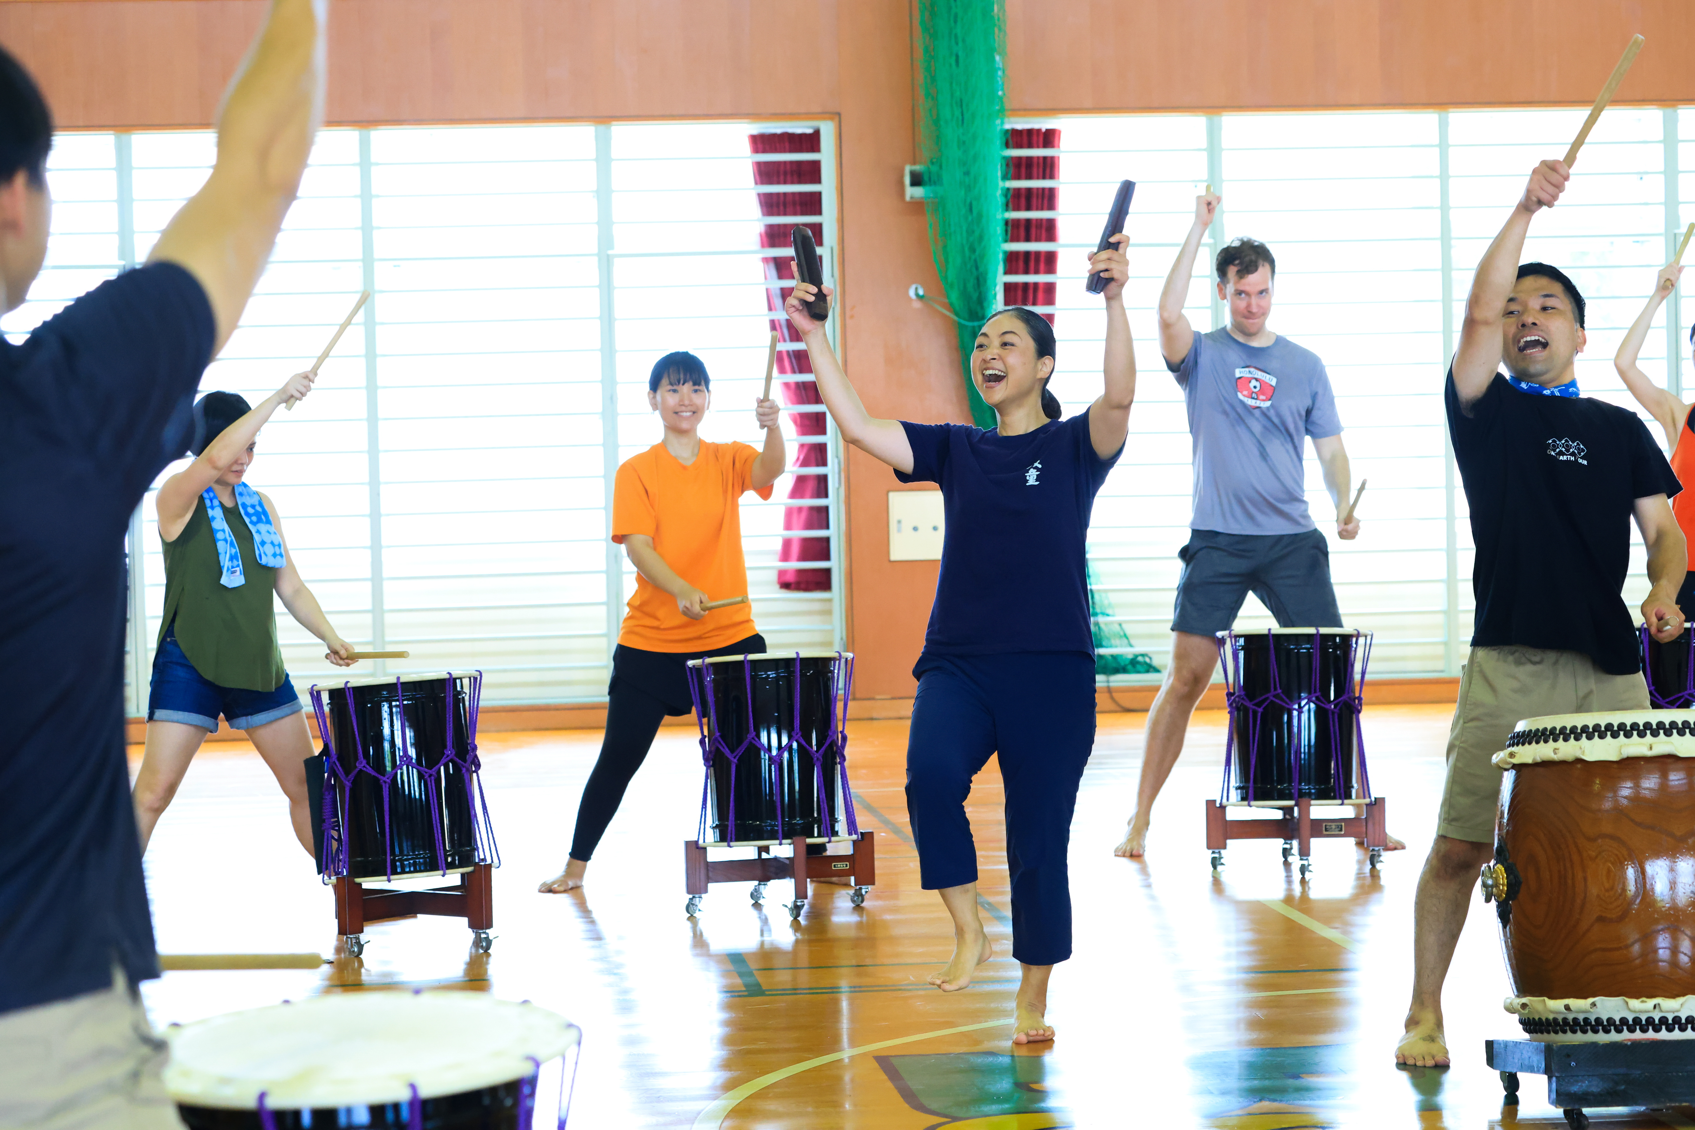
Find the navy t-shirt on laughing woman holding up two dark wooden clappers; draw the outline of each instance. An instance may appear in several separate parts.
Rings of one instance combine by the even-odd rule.
[[[912,474],[941,483],[946,527],[925,656],[1009,651],[1095,654],[1088,618],[1088,515],[1110,459],[1088,413],[1024,435],[961,424],[907,424]]]

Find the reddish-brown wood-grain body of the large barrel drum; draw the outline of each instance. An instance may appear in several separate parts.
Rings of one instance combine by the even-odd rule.
[[[1517,766],[1497,840],[1520,883],[1502,927],[1517,996],[1695,993],[1695,761]]]

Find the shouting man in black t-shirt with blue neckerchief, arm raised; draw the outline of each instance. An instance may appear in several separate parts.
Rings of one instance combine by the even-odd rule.
[[[1583,295],[1546,263],[1519,266],[1531,219],[1571,173],[1542,161],[1471,281],[1448,373],[1448,429],[1471,508],[1476,613],[1448,739],[1436,842],[1419,878],[1412,1006],[1395,1061],[1446,1066],[1442,981],[1478,869],[1492,857],[1500,774],[1519,718],[1646,710],[1639,640],[1620,598],[1631,520],[1648,546],[1642,620],[1683,630],[1678,481],[1642,420],[1578,395]],[[1500,374],[1505,363],[1507,376]]]

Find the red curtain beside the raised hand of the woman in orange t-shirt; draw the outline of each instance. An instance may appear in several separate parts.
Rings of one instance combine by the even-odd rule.
[[[1058,132],[1056,132],[1058,136]],[[1058,142],[1054,142],[1058,144]],[[747,137],[747,147],[754,156],[771,154],[771,152],[792,152],[795,159],[792,161],[754,161],[753,163],[753,183],[764,185],[820,185],[824,168],[819,159],[819,130],[785,130],[776,134],[751,134]],[[790,232],[795,229],[793,220],[785,220],[781,217],[820,217],[824,215],[824,193],[819,188],[809,188],[805,191],[761,191],[759,197],[759,246],[761,247],[780,247],[781,254],[766,256],[761,259],[764,263],[764,278],[768,283],[773,281],[793,281],[795,271],[788,266],[790,263]],[[805,222],[812,229],[812,239],[820,246],[824,244],[824,222],[812,219]],[[788,288],[793,290],[793,288]],[[764,291],[766,308],[773,313],[771,329],[778,332],[778,337],[788,344],[793,342],[795,349],[778,349],[776,354],[776,373],[778,379],[773,388],[781,390],[781,400],[785,405],[819,405],[819,412],[788,412],[790,422],[795,425],[795,435],[800,439],[824,437],[824,402],[819,398],[819,386],[810,381],[781,379],[785,376],[810,376],[812,363],[807,359],[807,351],[798,347],[800,335],[788,324],[788,317],[783,315],[783,300],[788,296],[788,290],[780,290],[768,286]],[[1051,288],[1049,288],[1051,290]],[[831,312],[831,317],[837,317]],[[825,503],[829,496],[829,476],[824,474],[827,463],[827,446],[822,442],[795,444],[795,452],[792,454],[788,466],[795,471],[802,471],[790,479],[788,501],[800,501],[807,498],[817,498],[814,505],[790,505],[783,510],[783,529],[785,530],[825,530],[831,525],[831,510]],[[817,474],[805,474],[807,468],[817,468]],[[778,561],[829,561],[831,544],[827,537],[785,537],[783,547],[778,552]],[[829,568],[812,568],[812,569],[778,569],[776,573],[778,588],[790,591],[814,591],[822,593],[831,588],[831,571]]]

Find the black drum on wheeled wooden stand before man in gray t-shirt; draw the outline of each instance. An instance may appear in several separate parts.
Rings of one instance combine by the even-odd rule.
[[[1305,879],[1314,839],[1353,839],[1364,842],[1376,871],[1388,849],[1388,806],[1371,795],[1359,728],[1371,632],[1219,632],[1217,644],[1231,728],[1224,786],[1207,801],[1212,869],[1224,866],[1231,840],[1283,840],[1283,862],[1298,856]],[[1314,818],[1314,806],[1354,811]],[[1231,820],[1231,808],[1281,811]]]

